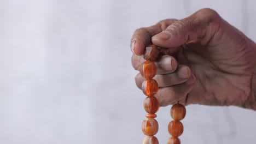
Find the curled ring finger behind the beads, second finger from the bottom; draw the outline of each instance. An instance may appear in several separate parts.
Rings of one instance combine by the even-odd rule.
[[[178,85],[189,79],[191,76],[191,70],[186,65],[179,65],[177,70],[171,74],[165,75],[156,75],[154,79],[158,82],[158,86],[161,87],[170,87],[173,85]],[[142,89],[142,83],[146,80],[140,75],[135,77],[136,85],[139,89]]]

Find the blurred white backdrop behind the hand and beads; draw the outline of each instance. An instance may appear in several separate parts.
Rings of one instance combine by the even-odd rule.
[[[212,8],[256,40],[256,2],[0,0],[0,143],[142,143],[136,28]],[[160,143],[170,106],[158,114]],[[182,143],[255,143],[256,112],[190,105]]]

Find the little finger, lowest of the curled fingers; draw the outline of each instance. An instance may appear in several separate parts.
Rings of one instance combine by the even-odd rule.
[[[193,89],[195,81],[195,76],[191,75],[189,80],[184,83],[160,88],[155,97],[158,98],[160,106],[175,104],[178,101],[179,103],[186,105],[187,94]]]

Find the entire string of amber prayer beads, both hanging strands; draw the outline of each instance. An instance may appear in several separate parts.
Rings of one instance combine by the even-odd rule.
[[[148,97],[144,100],[144,109],[148,113],[146,119],[142,123],[142,131],[147,137],[143,140],[143,144],[159,144],[158,139],[154,136],[158,133],[158,121],[155,113],[159,110],[159,101],[155,94],[158,93],[159,87],[153,77],[156,75],[155,61],[158,58],[160,49],[155,45],[149,45],[144,52],[144,59],[147,61],[141,65],[140,73],[146,80],[142,83],[142,91]],[[167,144],[181,143],[178,136],[183,133],[183,124],[180,122],[185,117],[185,107],[182,104],[174,104],[171,108],[171,117],[174,121],[168,125],[168,131],[172,137]]]

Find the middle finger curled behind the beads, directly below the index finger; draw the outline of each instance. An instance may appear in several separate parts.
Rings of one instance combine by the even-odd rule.
[[[143,58],[143,56],[137,56],[135,54],[132,55],[132,67],[135,68],[136,70],[141,69],[141,65],[145,62],[146,60]],[[162,56],[160,61],[155,62],[156,65],[156,74],[168,74],[172,73],[177,69],[177,60],[172,57],[172,56]]]

